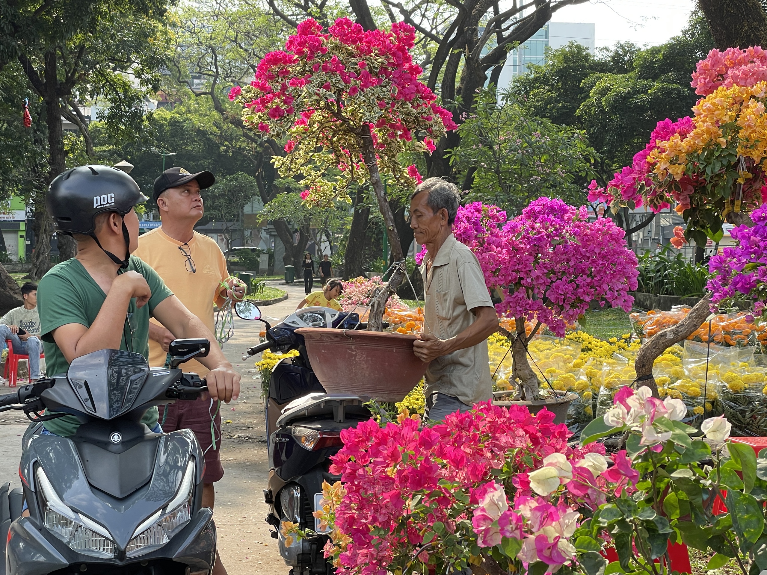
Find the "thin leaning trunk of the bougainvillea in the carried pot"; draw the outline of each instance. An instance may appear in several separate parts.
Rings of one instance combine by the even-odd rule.
[[[378,172],[376,150],[373,146],[373,138],[370,136],[370,126],[367,124],[362,126],[361,133],[365,164],[370,172],[370,183],[373,186],[373,191],[375,192],[378,201],[378,209],[380,210],[381,215],[384,216],[384,225],[386,226],[389,245],[391,247],[391,257],[393,261],[402,262],[401,265],[394,268],[391,278],[384,288],[381,288],[373,300],[370,301],[370,315],[367,320],[367,329],[370,331],[380,331],[383,329],[386,302],[393,294],[397,293],[397,288],[400,287],[400,284],[405,278],[406,267],[402,245],[400,245],[400,235],[397,233],[397,225],[394,223],[394,215],[391,212],[389,201],[384,192],[384,182],[381,182],[380,173]]]

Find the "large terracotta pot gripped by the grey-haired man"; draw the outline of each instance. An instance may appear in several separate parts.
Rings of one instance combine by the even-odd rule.
[[[413,353],[412,335],[301,327],[317,379],[328,393],[402,401],[429,366]]]

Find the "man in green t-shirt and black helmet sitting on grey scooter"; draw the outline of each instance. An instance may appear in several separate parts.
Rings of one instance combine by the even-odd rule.
[[[51,268],[41,279],[38,306],[47,372],[66,373],[76,357],[121,349],[149,355],[149,318],[174,337],[213,334],[174,296],[156,272],[130,255],[138,247],[139,220],[133,206],[146,201],[127,173],[111,166],[67,170],[48,189],[45,202],[59,233],[77,240],[77,256]],[[239,373],[218,346],[199,360],[210,371],[212,399],[239,396]],[[157,408],[143,418],[160,431]],[[64,416],[45,422],[56,435],[74,435],[79,422]]]

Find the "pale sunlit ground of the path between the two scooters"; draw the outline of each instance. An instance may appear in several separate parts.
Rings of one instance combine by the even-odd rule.
[[[288,300],[264,307],[263,314],[283,318],[295,311],[304,297],[304,286],[286,286],[279,281],[269,283],[288,291]],[[318,289],[318,284],[314,285]],[[273,323],[273,322],[272,322]],[[219,552],[230,575],[286,575],[288,567],[281,559],[277,540],[269,535],[264,518],[268,509],[262,490],[268,477],[266,430],[261,382],[254,363],[258,357],[242,360],[245,350],[258,343],[261,322],[235,319],[235,335],[223,350],[235,369],[242,374],[242,392],[235,403],[222,405],[221,458],[224,477],[216,484],[214,518],[219,534]],[[0,386],[0,394],[7,393]],[[18,459],[21,433],[28,423],[23,414],[0,414],[0,483],[14,481],[18,485]]]

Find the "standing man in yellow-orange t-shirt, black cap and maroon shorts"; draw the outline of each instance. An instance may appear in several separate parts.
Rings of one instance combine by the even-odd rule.
[[[186,308],[214,331],[213,305],[222,305],[227,297],[242,299],[245,285],[229,278],[226,258],[216,241],[194,231],[204,215],[200,189],[212,186],[211,172],[189,173],[186,169],[166,169],[154,182],[154,200],[160,211],[162,226],[140,236],[139,248],[133,252],[146,261]],[[173,334],[155,320],[150,323],[150,366],[164,366]],[[195,360],[184,364],[184,370],[204,377],[208,370]],[[215,434],[211,431],[213,420]],[[196,402],[176,402],[160,406],[163,431],[192,429],[205,452],[205,475],[202,478],[202,505],[213,508],[216,490],[213,483],[224,475],[221,465],[221,414],[216,403],[207,397]],[[215,435],[215,437],[214,437]],[[216,445],[213,445],[213,442]],[[226,575],[216,553],[212,575]]]

